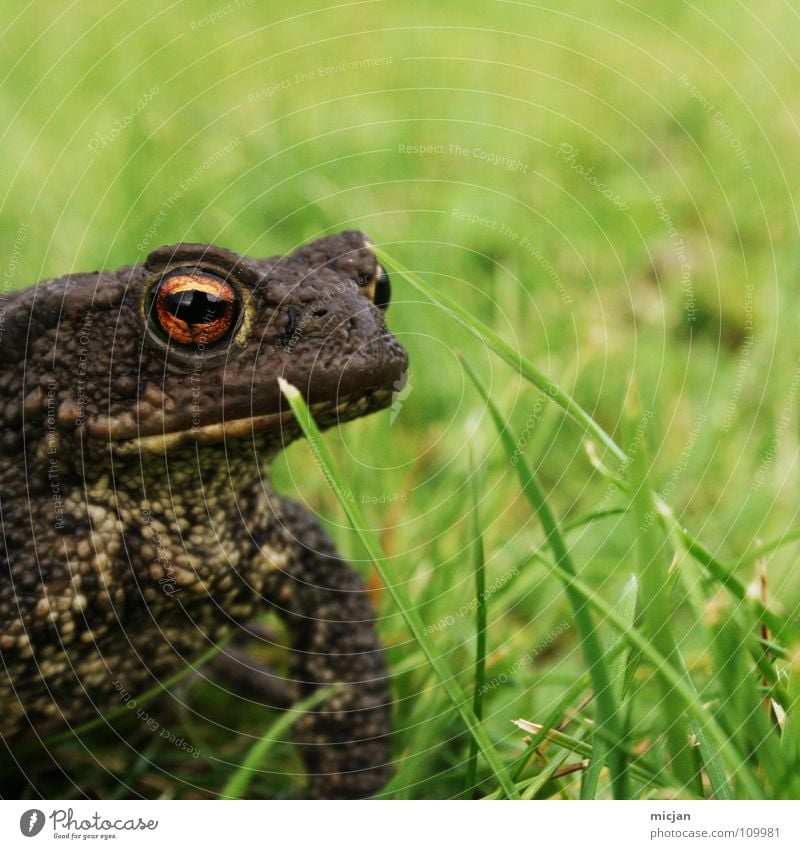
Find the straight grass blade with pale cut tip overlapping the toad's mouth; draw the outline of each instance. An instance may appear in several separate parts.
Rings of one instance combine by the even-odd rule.
[[[394,580],[394,576],[386,564],[386,558],[383,554],[383,550],[377,542],[374,533],[366,530],[367,522],[364,518],[364,514],[361,512],[361,507],[355,501],[351,501],[346,497],[346,494],[351,490],[345,486],[341,472],[333,459],[333,455],[330,453],[328,446],[322,440],[319,428],[314,422],[314,419],[311,416],[305,401],[300,395],[300,392],[290,383],[283,380],[283,378],[278,378],[278,383],[280,385],[281,392],[294,413],[295,419],[297,419],[301,430],[305,434],[320,471],[333,489],[342,509],[345,512],[345,515],[348,518],[348,521],[350,522],[350,525],[356,533],[356,536],[375,565],[375,568],[378,570],[378,574],[386,586],[389,595],[400,610],[400,613],[405,619],[412,636],[427,657],[428,663],[436,673],[436,677],[441,682],[442,687],[450,698],[450,701],[453,703],[453,707],[455,707],[461,715],[464,724],[467,726],[467,729],[475,740],[478,749],[494,774],[498,784],[502,787],[505,795],[512,799],[519,798],[517,789],[511,781],[505,767],[500,762],[486,731],[475,716],[472,708],[467,705],[466,697],[461,690],[461,687],[447,668],[447,665],[436,653],[433,641],[426,632],[425,625],[423,624],[420,615],[417,613],[416,608],[411,603],[411,599],[409,598],[405,588],[401,584],[396,583]]]

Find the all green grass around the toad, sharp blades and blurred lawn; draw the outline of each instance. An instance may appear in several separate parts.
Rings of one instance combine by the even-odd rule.
[[[374,589],[385,795],[800,797],[796,13],[257,2],[198,23],[223,6],[4,24],[4,285],[364,229],[409,270],[388,320],[410,390],[319,443],[362,516],[307,444],[273,482]],[[193,676],[148,710],[200,756],[123,716],[32,786],[302,794],[280,714]]]

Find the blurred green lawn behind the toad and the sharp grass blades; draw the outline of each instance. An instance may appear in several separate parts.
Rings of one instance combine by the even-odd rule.
[[[721,558],[735,562],[800,524],[800,20],[788,3],[756,13],[722,0],[38,0],[7,18],[0,44],[6,286],[137,262],[178,241],[272,255],[360,228],[623,442],[635,379],[651,413],[652,482]],[[571,628],[530,656],[569,607],[541,564],[503,578],[541,529],[456,351],[518,432],[533,423],[524,454],[563,521],[623,502],[593,471],[579,428],[394,283],[388,319],[411,355],[410,388],[396,414],[329,440],[425,621],[452,618],[433,636],[465,687],[471,444],[487,583],[500,582],[487,680],[504,680],[486,696],[485,726],[510,762],[524,749],[510,720],[543,721],[585,670]],[[324,517],[369,577],[302,444],[274,481]],[[582,578],[611,602],[635,565],[625,521],[570,536]],[[800,601],[796,554],[786,547],[768,562],[770,603],[784,612]],[[752,565],[737,574],[755,579]],[[388,795],[457,795],[463,728],[371,580],[397,697]],[[708,582],[693,586],[713,621],[724,601]],[[676,615],[690,672],[711,697],[708,621]],[[233,710],[212,684],[187,687],[161,721],[201,757],[134,722],[127,745],[113,732],[76,745],[66,777],[34,770],[32,792],[74,795],[78,775],[81,792],[98,796],[220,792],[246,735],[272,717]],[[297,795],[302,776],[284,773],[301,771],[281,745],[250,792]],[[574,792],[569,779],[542,791]]]

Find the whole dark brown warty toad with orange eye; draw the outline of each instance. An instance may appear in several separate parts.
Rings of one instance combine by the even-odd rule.
[[[268,606],[297,694],[352,686],[298,731],[316,796],[388,774],[382,650],[358,578],[266,470],[405,369],[360,233],[285,259],[203,245],[9,297],[0,330],[0,733],[76,726],[143,694]]]

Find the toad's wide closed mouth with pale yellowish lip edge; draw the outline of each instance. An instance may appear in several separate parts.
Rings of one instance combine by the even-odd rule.
[[[312,403],[309,409],[319,427],[326,428],[388,407],[393,396],[394,389],[366,390]],[[141,453],[163,454],[183,445],[211,445],[228,439],[242,439],[264,433],[273,434],[278,444],[291,442],[299,435],[299,425],[288,406],[277,412],[231,417],[211,424],[193,424],[179,429],[169,429],[165,423],[164,430],[160,433],[127,436],[106,431],[104,435],[108,438],[114,454],[124,456]]]

